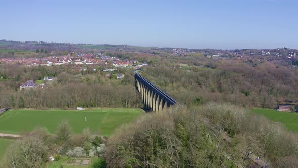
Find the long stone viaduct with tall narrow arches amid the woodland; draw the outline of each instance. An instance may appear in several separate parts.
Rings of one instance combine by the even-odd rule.
[[[179,104],[174,98],[162,89],[158,88],[151,81],[135,72],[136,88],[139,91],[145,105],[145,109],[162,112]]]

